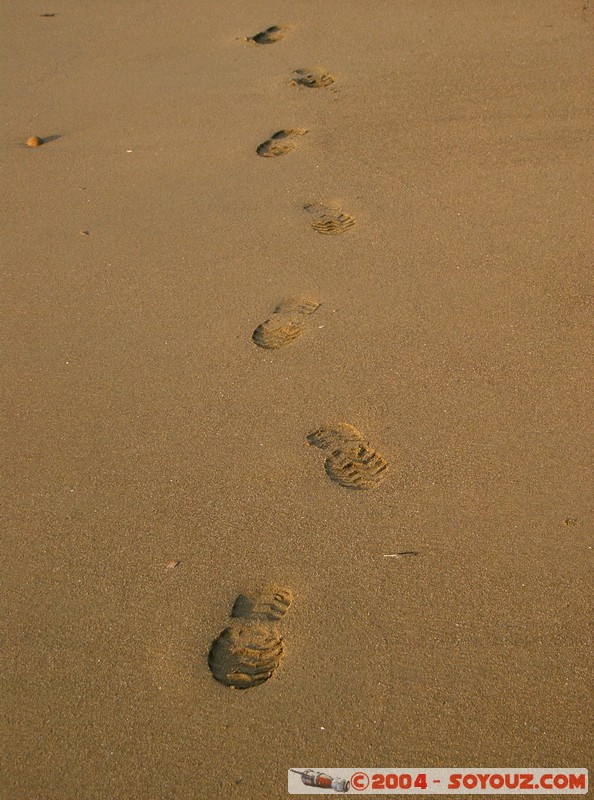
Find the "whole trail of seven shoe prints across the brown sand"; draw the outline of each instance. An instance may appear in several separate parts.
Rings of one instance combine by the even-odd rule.
[[[274,44],[282,41],[285,27],[273,25],[246,41]],[[292,85],[321,89],[334,83],[323,69],[296,69]],[[273,133],[256,148],[262,158],[288,155],[298,147],[305,128],[284,128]],[[355,218],[336,203],[306,203],[311,227],[320,234],[339,236],[355,224]],[[252,333],[252,341],[264,350],[278,350],[299,339],[307,321],[320,307],[309,295],[282,300],[270,316]],[[309,433],[307,442],[325,455],[328,477],[346,489],[377,488],[386,477],[388,464],[363,435],[345,422],[319,428]],[[285,655],[280,621],[293,601],[288,588],[267,586],[252,595],[241,594],[231,611],[229,625],[213,641],[208,665],[213,677],[234,689],[250,689],[267,680],[278,670]]]

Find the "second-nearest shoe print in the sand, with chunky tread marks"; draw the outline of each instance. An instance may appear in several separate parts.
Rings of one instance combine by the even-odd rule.
[[[347,489],[374,489],[386,477],[388,464],[354,427],[339,422],[308,434],[307,441],[328,453],[328,476]]]

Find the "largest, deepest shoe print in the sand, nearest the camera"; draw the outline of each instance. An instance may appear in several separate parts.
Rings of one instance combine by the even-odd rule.
[[[250,689],[272,677],[285,654],[276,623],[292,601],[290,589],[274,586],[239,595],[231,624],[214,640],[208,655],[208,666],[217,681],[233,689]]]

